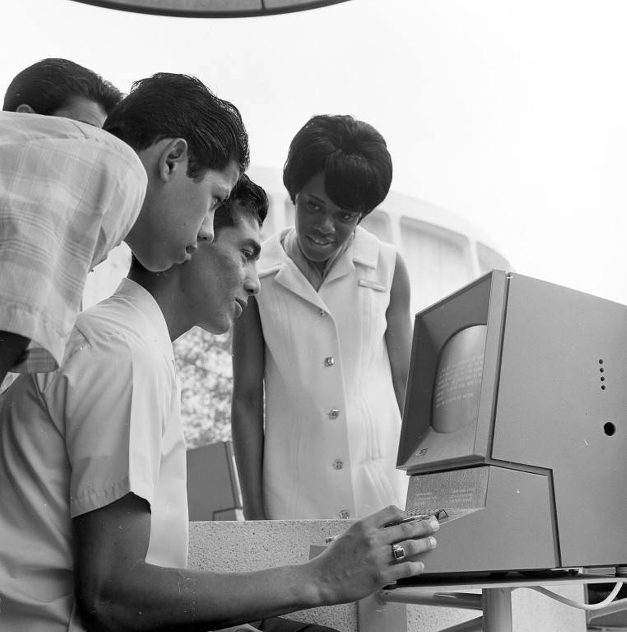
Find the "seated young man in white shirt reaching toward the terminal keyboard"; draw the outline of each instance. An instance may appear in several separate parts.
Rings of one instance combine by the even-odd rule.
[[[389,526],[405,518],[396,507],[351,525],[305,564],[185,568],[171,340],[193,325],[227,331],[259,291],[265,208],[265,194],[243,178],[216,213],[214,243],[159,274],[136,262],[111,298],[78,317],[61,368],[21,376],[0,400],[3,630],[207,630],[258,620],[281,629],[264,621],[422,572],[416,556],[435,546],[437,522]]]

